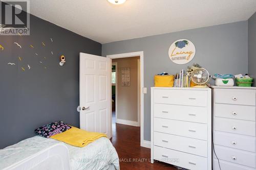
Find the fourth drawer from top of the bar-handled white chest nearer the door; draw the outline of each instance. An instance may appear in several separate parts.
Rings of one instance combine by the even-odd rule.
[[[154,145],[207,157],[207,141],[154,132]]]

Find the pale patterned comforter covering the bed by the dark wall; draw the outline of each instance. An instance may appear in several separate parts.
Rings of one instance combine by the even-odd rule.
[[[51,138],[34,136],[0,150],[0,169],[59,142]],[[71,169],[110,169],[113,165],[119,169],[117,152],[108,138],[101,137],[83,148],[66,143],[65,145],[69,149]]]

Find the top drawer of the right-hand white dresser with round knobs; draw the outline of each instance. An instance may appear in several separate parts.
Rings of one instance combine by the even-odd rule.
[[[215,103],[255,106],[255,90],[215,89]]]

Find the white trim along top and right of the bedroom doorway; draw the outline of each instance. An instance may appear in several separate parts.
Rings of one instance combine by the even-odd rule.
[[[144,62],[143,62],[143,51],[107,55],[106,57],[108,57],[110,59],[117,59],[117,58],[127,58],[127,57],[137,57],[137,56],[140,57],[140,145],[141,145],[141,147],[148,148],[148,143],[145,143],[145,141],[144,141],[144,94],[143,94]],[[111,126],[112,126],[112,124],[111,124]]]

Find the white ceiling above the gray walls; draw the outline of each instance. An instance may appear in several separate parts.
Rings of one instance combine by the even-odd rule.
[[[256,0],[31,0],[30,13],[100,43],[247,20]]]

